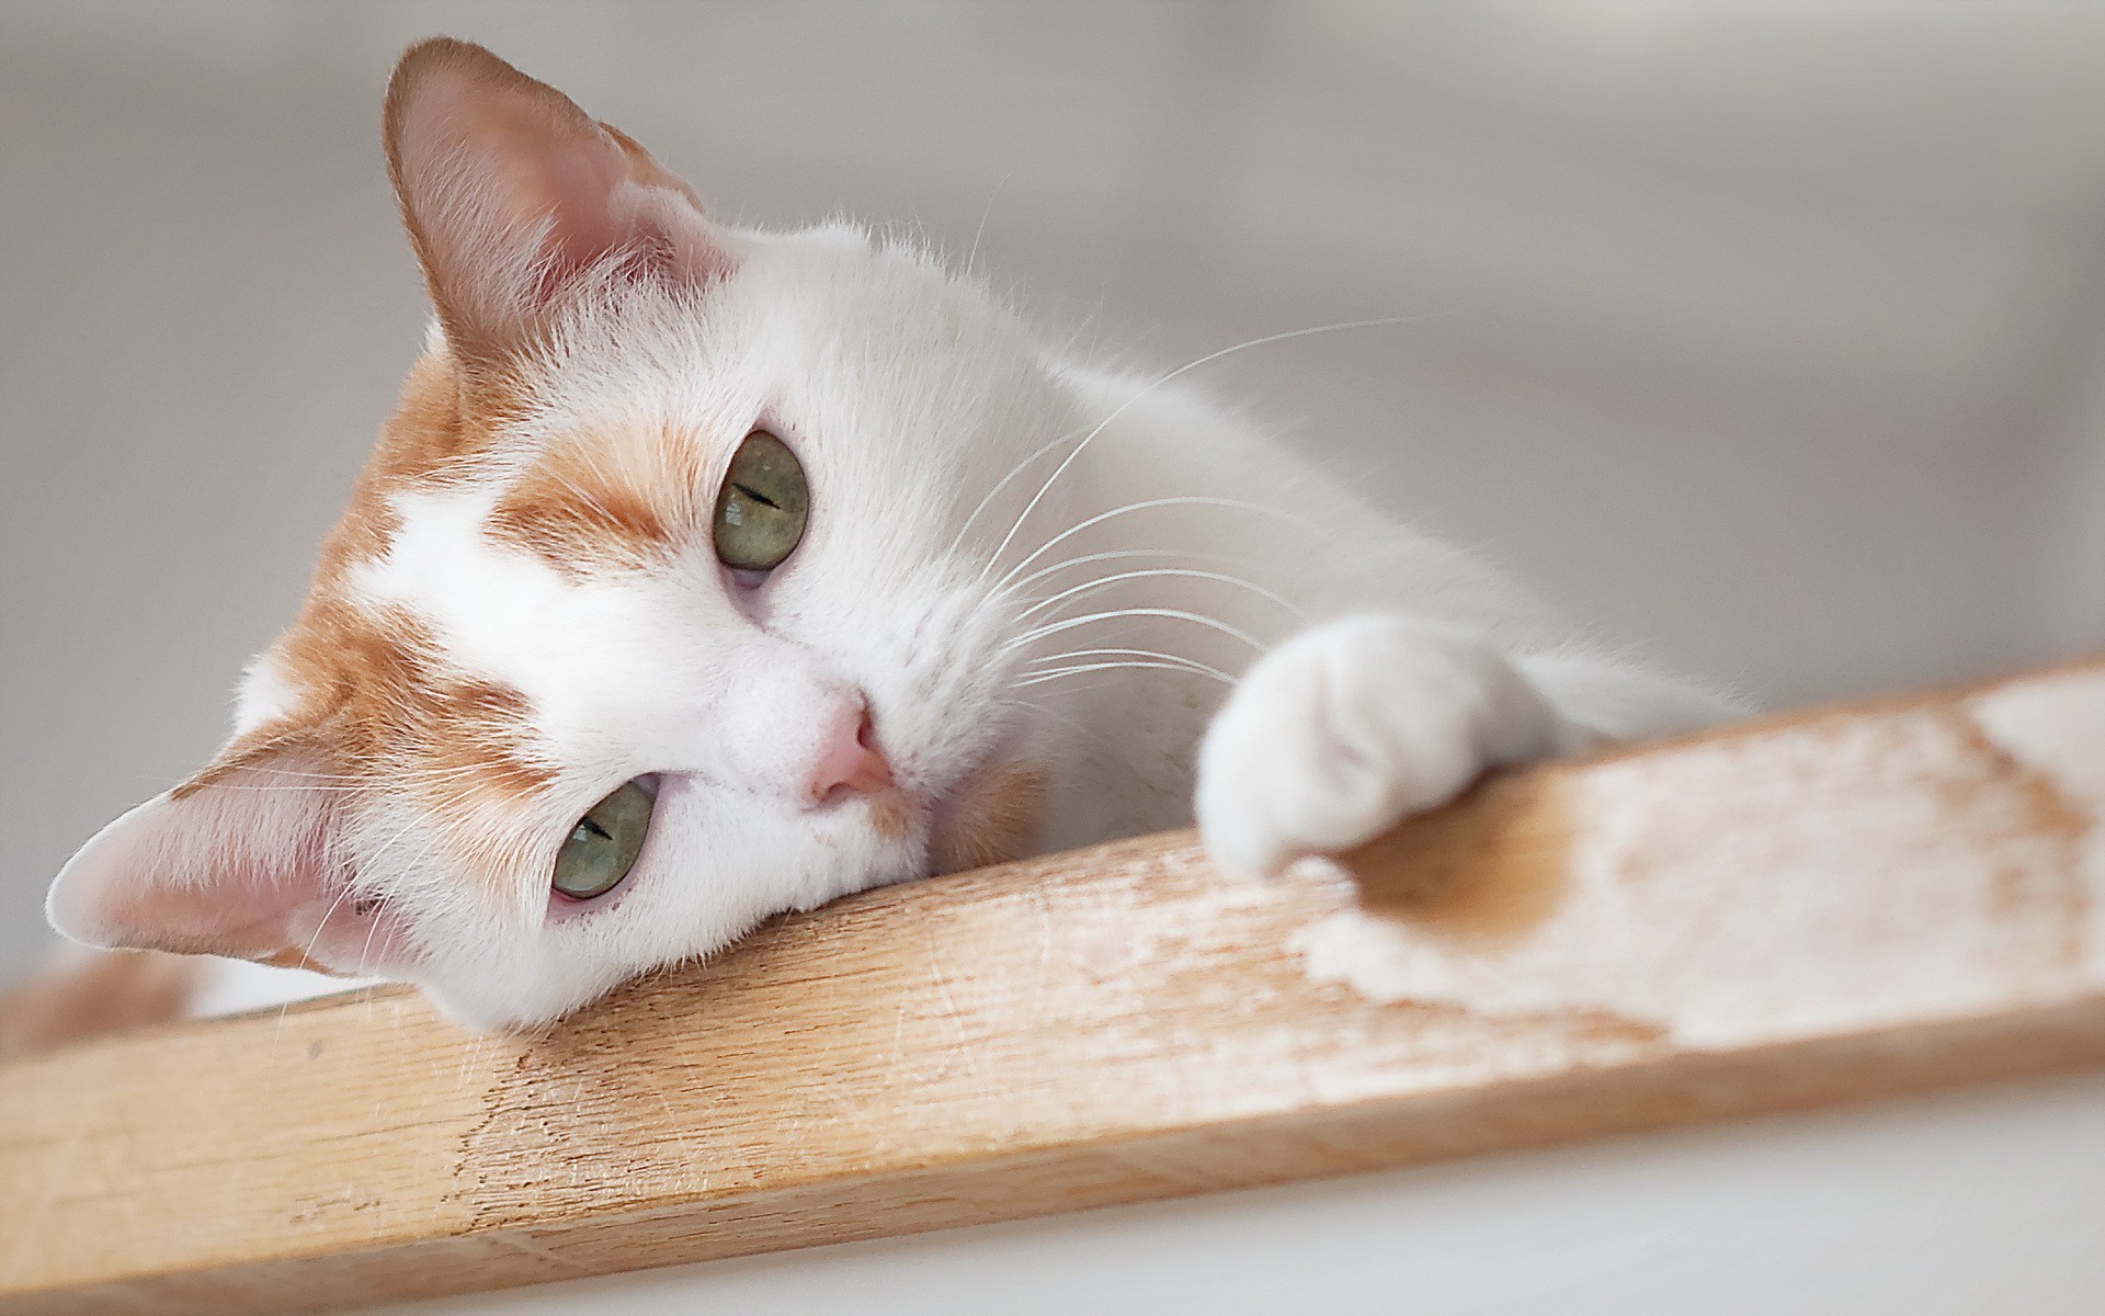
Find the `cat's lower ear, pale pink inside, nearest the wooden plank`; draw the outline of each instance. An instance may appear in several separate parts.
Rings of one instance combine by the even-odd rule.
[[[394,912],[352,891],[343,800],[316,737],[242,737],[80,846],[51,884],[51,924],[88,945],[352,975],[398,964]]]

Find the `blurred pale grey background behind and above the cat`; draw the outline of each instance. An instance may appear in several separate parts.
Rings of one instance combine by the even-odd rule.
[[[8,0],[0,969],[217,745],[415,352],[432,32],[1105,354],[1438,312],[1202,377],[1766,703],[2105,642],[2105,4]]]

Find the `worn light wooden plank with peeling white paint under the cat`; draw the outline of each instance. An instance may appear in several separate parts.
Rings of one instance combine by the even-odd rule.
[[[785,918],[530,1038],[402,990],[0,1070],[0,1312],[293,1312],[2105,1061],[2105,665]]]

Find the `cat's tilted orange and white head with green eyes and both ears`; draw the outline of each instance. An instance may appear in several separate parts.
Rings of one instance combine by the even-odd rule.
[[[234,739],[55,924],[497,1028],[1029,851],[1057,764],[996,558],[1078,427],[1021,324],[861,230],[711,221],[478,46],[404,55],[385,145],[427,350]]]

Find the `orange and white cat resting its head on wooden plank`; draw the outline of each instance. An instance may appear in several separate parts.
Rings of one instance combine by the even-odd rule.
[[[762,918],[1198,823],[1276,874],[1735,703],[1181,379],[869,232],[754,232],[493,53],[408,48],[434,322],[229,743],[67,937],[530,1028]]]

